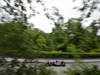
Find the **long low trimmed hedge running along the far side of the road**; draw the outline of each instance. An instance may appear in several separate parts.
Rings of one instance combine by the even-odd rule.
[[[73,59],[73,58],[100,58],[99,53],[68,53],[68,52],[35,52],[33,58]]]

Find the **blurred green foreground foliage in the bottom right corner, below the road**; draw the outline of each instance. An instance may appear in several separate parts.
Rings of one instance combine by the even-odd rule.
[[[97,65],[77,64],[66,71],[66,75],[99,75],[100,69]]]

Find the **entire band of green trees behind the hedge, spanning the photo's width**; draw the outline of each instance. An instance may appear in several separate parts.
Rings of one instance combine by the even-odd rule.
[[[52,33],[44,33],[21,22],[1,23],[0,54],[35,58],[35,51],[78,53],[100,49],[99,28],[95,23],[83,28],[79,19],[70,19],[55,26]]]

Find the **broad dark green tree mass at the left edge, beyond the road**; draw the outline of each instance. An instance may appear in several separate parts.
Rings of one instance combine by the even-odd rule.
[[[17,22],[0,24],[0,53],[10,56],[32,53],[32,38],[24,25]]]

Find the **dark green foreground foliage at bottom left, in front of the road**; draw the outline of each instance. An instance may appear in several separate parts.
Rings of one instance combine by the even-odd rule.
[[[19,65],[18,63],[19,62]],[[17,64],[17,65],[16,65]],[[6,65],[6,66],[5,66]],[[56,75],[54,71],[48,69],[45,64],[25,63],[17,59],[5,63],[0,69],[2,75]]]

